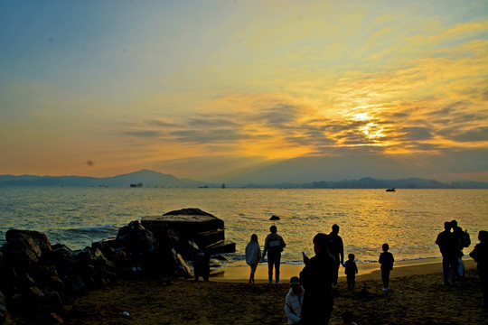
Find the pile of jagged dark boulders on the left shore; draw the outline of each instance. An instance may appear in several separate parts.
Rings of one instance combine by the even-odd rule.
[[[169,238],[156,240],[138,221],[121,228],[119,235],[72,251],[51,246],[37,231],[7,231],[0,247],[0,324],[8,323],[11,314],[33,316],[35,323],[61,323],[60,311],[72,298],[120,277],[192,276]]]

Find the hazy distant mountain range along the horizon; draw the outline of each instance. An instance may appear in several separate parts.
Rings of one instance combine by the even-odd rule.
[[[170,174],[142,170],[113,177],[96,178],[82,176],[35,176],[35,175],[0,175],[0,186],[66,186],[66,187],[129,187],[131,184],[143,184],[144,187],[169,187],[169,188],[198,188],[221,187],[204,181],[179,179]],[[343,181],[314,181],[305,184],[277,183],[247,185],[227,184],[227,187],[244,188],[309,188],[309,189],[488,189],[488,182],[481,181],[453,181],[443,183],[419,178],[399,180],[381,180],[371,177],[360,180]]]

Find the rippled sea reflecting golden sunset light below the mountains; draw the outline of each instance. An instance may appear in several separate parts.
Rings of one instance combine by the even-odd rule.
[[[314,255],[312,239],[340,226],[345,254],[358,264],[378,261],[388,243],[397,261],[439,257],[435,244],[444,222],[456,219],[471,235],[488,230],[488,190],[322,190],[165,188],[0,188],[0,245],[10,228],[41,231],[52,244],[80,249],[116,237],[128,222],[174,209],[199,208],[225,222],[237,244],[231,265],[244,265],[250,236],[259,244],[276,225],[286,241],[282,261],[301,264]],[[270,221],[273,215],[280,220]]]

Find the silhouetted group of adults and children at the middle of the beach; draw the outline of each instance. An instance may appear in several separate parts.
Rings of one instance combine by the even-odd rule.
[[[268,284],[273,283],[273,270],[275,271],[275,283],[279,284],[279,265],[281,252],[286,247],[283,237],[277,234],[277,227],[269,228],[270,234],[265,239],[265,246],[261,254],[258,244],[258,236],[253,234],[248,246],[246,246],[246,262],[250,266],[249,283],[254,283],[254,276],[259,262],[267,255]],[[333,309],[333,290],[337,289],[339,268],[344,267],[347,276],[348,289],[355,287],[355,275],[358,267],[353,254],[348,255],[348,261],[344,263],[343,238],[339,236],[339,226],[333,225],[330,234],[319,233],[315,235],[314,256],[309,258],[304,255],[305,267],[299,276],[290,279],[290,291],[286,294],[285,311],[288,324],[316,324],[322,320],[324,324],[329,322]],[[380,255],[381,277],[384,283],[383,291],[388,291],[389,272],[393,268],[393,255],[388,252],[388,244],[383,245],[383,253]],[[344,322],[351,322],[351,315],[344,314]]]

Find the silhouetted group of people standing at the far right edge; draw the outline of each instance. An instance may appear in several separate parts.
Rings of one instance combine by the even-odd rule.
[[[476,262],[476,269],[481,280],[483,306],[488,308],[488,231],[478,233],[479,244],[469,254]],[[471,238],[466,230],[457,225],[456,220],[446,221],[444,231],[436,238],[442,255],[442,274],[445,285],[454,285],[457,280],[465,277],[465,265],[462,257],[463,249],[471,245]],[[451,282],[449,282],[451,280]]]

